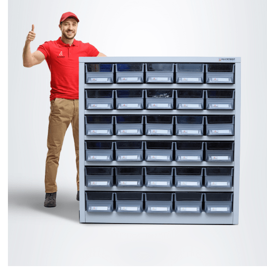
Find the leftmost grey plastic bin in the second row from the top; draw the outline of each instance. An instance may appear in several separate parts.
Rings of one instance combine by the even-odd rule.
[[[86,109],[113,109],[112,90],[86,90]]]

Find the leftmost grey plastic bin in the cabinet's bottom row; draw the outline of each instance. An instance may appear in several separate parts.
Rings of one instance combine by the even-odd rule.
[[[86,192],[87,212],[112,212],[114,203],[113,192]]]

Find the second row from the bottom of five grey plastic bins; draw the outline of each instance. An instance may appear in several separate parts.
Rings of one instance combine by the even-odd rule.
[[[88,187],[232,187],[233,168],[85,167],[85,178]]]

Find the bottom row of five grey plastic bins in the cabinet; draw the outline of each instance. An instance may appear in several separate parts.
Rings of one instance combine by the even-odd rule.
[[[115,201],[114,201],[115,195]],[[204,204],[203,204],[204,196]],[[231,213],[233,193],[86,192],[87,212]]]

